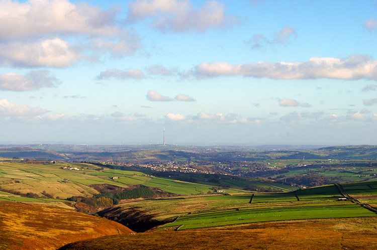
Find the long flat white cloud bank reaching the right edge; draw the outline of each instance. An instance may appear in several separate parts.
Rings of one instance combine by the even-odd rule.
[[[343,79],[377,80],[377,60],[354,54],[347,58],[312,57],[308,62],[265,62],[229,64],[202,63],[194,70],[197,78],[218,76],[250,76],[271,79]]]

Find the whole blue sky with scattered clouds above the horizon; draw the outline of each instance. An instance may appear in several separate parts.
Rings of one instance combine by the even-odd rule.
[[[377,142],[375,0],[0,0],[0,24],[0,144]]]

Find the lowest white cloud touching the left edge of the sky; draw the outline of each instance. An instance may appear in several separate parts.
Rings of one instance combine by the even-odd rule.
[[[41,107],[30,107],[28,105],[16,105],[8,99],[0,99],[0,116],[10,117],[35,117],[46,113],[47,110]]]

